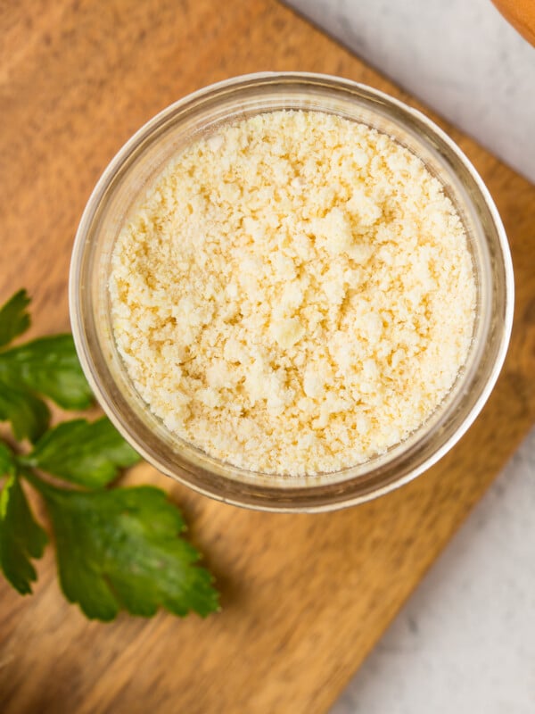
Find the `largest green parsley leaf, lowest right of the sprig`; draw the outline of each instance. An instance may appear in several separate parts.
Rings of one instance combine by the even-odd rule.
[[[40,484],[53,522],[63,593],[91,619],[121,608],[151,617],[158,607],[184,616],[218,609],[208,570],[179,534],[184,521],[152,486],[65,491]]]

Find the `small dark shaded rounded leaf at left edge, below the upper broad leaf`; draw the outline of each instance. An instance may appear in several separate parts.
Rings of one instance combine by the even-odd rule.
[[[16,439],[36,441],[50,421],[50,411],[43,400],[28,389],[6,384],[0,379],[0,421],[10,421]]]

